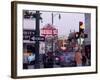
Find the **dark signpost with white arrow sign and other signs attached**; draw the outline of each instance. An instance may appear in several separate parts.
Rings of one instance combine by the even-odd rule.
[[[36,29],[35,30],[24,30],[23,31],[23,40],[24,41],[35,41],[35,64],[34,68],[40,68],[40,63],[39,63],[39,41],[44,41],[44,38],[40,36],[40,20],[41,18],[41,13],[40,11],[36,11],[35,13],[25,11],[24,12],[24,18],[26,19],[35,19],[36,22]],[[34,37],[33,37],[34,36]]]

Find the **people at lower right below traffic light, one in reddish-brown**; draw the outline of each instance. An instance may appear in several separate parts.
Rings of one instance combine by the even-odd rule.
[[[81,49],[80,45],[75,46],[75,62],[76,66],[89,66],[90,65],[90,47]]]

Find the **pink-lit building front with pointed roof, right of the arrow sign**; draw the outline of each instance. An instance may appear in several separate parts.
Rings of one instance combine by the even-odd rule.
[[[58,39],[58,29],[51,24],[47,24],[41,28],[40,33],[45,37],[45,53],[54,52]]]

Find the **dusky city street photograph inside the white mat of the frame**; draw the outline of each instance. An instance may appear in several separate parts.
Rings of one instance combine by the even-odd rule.
[[[23,13],[23,69],[91,65],[90,14]]]

